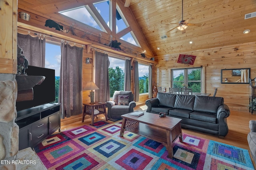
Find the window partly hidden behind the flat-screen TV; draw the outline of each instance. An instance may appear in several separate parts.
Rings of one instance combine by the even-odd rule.
[[[58,98],[59,98],[60,59],[61,59],[60,45],[46,43],[44,67],[55,70],[55,102],[58,102]]]

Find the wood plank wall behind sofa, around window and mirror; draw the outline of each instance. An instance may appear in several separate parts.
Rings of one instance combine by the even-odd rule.
[[[181,54],[183,54],[181,52]],[[206,66],[206,93],[214,93],[224,98],[230,110],[248,111],[249,84],[221,84],[220,70],[229,68],[251,68],[250,78],[256,77],[256,42],[228,45],[211,49],[190,51],[185,54],[196,55],[194,65],[177,63],[179,54],[158,56],[154,68],[155,86],[169,87],[169,69]]]

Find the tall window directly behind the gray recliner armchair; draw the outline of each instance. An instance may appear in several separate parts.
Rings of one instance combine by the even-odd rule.
[[[108,57],[110,65],[108,68],[110,98],[112,98],[115,91],[124,90],[124,63],[122,59]]]

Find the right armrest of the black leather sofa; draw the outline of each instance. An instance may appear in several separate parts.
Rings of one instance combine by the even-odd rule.
[[[217,109],[217,119],[219,125],[219,137],[225,137],[228,134],[227,117],[230,115],[230,110],[226,104],[222,104]]]

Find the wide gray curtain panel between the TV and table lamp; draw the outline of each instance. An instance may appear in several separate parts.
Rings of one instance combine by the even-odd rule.
[[[82,113],[83,48],[61,43],[60,93],[61,118]]]

